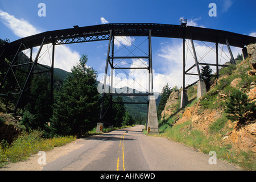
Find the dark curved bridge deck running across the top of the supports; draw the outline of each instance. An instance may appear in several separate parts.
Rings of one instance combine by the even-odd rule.
[[[108,40],[110,30],[113,30],[114,36],[148,36],[148,30],[151,30],[154,37],[185,38],[220,44],[226,44],[226,39],[228,39],[230,46],[241,48],[256,42],[256,38],[253,36],[210,28],[155,23],[115,23],[43,32],[8,43],[0,48],[0,52],[5,49],[5,54],[7,55],[15,53],[21,43],[24,46],[20,50],[40,46],[43,38],[46,38],[44,44],[70,44]]]

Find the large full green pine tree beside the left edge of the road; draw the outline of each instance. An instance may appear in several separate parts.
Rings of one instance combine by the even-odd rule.
[[[96,126],[100,114],[97,73],[86,67],[87,61],[88,57],[82,55],[71,69],[53,106],[51,122],[57,134],[80,137]]]

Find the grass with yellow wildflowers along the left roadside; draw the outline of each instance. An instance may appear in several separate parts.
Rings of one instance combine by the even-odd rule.
[[[23,133],[8,144],[5,141],[0,143],[0,167],[9,162],[18,162],[27,159],[30,155],[39,151],[52,150],[54,147],[63,146],[76,140],[76,137],[53,137],[50,139],[42,138],[42,132],[32,131]]]

